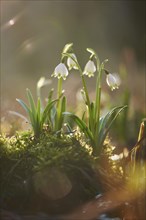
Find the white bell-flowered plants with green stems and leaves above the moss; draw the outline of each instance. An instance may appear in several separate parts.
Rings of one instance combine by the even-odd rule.
[[[29,89],[27,89],[29,106],[20,99],[17,99],[17,101],[27,112],[36,137],[39,137],[45,125],[49,127],[51,132],[60,135],[64,126],[64,118],[66,118],[68,132],[73,132],[73,128],[69,124],[71,119],[79,127],[80,131],[84,133],[87,143],[92,147],[93,155],[99,156],[104,140],[113,122],[126,106],[115,107],[106,115],[100,115],[101,78],[103,73],[106,74],[106,81],[111,90],[119,87],[120,78],[117,74],[111,74],[105,69],[105,64],[108,61],[107,59],[100,62],[98,55],[93,49],[87,48],[87,51],[90,54],[89,60],[86,63],[84,70],[82,70],[76,55],[73,53],[73,44],[65,45],[61,54],[61,61],[52,74],[52,77],[58,78],[57,98],[53,99],[53,89],[51,89],[45,107],[43,107],[40,95],[41,87],[47,84],[47,81],[44,78],[41,78],[37,85],[37,105],[35,105]],[[83,88],[81,89],[81,95],[84,99],[86,110],[81,117],[78,117],[72,112],[66,111],[66,97],[63,90],[63,80],[66,80],[71,69],[79,71],[82,80]],[[96,97],[95,100],[92,101],[89,97],[85,77],[94,77],[96,72]]]

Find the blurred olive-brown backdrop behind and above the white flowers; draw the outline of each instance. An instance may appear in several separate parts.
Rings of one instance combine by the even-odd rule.
[[[106,69],[121,74],[121,87],[112,93],[103,77],[103,89],[112,95],[105,105],[122,104],[127,90],[130,114],[145,111],[145,1],[2,0],[0,4],[2,121],[8,110],[23,112],[16,98],[26,100],[26,88],[36,94],[37,81],[51,77],[64,45],[70,42],[82,68],[89,57],[86,48],[91,47],[100,60],[109,59]],[[87,81],[94,96],[95,80]],[[54,79],[50,87],[56,83]],[[77,72],[70,74],[64,88],[69,105],[74,106],[81,88]]]

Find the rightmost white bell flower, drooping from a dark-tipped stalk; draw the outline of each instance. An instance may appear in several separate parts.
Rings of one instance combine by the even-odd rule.
[[[111,88],[112,91],[114,89],[118,89],[119,85],[121,84],[120,77],[116,73],[114,73],[114,74],[111,74],[111,73],[107,74],[106,82],[107,82],[108,86]]]

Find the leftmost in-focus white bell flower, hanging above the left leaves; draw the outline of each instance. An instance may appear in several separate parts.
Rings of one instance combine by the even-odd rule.
[[[57,77],[58,79],[63,78],[65,80],[66,77],[68,76],[68,69],[66,68],[65,64],[64,63],[58,64],[52,76]]]

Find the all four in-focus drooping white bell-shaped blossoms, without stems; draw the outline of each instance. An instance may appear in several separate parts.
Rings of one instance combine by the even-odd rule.
[[[64,80],[66,80],[66,77],[68,76],[69,72],[68,70],[71,69],[78,69],[78,65],[77,65],[77,57],[74,53],[70,54],[70,57],[68,57],[67,59],[67,66],[64,63],[60,63],[58,64],[58,66],[56,66],[54,73],[52,74],[52,76],[57,77],[58,79],[63,78]],[[84,68],[83,71],[83,75],[87,75],[88,77],[93,77],[94,73],[96,72],[97,68],[94,64],[94,62],[92,60],[89,60]],[[118,89],[119,85],[121,84],[121,80],[120,77],[118,76],[118,74],[111,74],[108,73],[106,71],[106,82],[108,84],[108,86],[111,88],[111,90],[113,91],[114,89]]]

